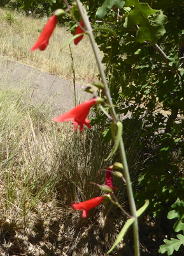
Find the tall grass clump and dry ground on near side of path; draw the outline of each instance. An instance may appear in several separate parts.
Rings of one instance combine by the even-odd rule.
[[[100,205],[83,220],[71,203],[101,194],[90,181],[104,183],[105,172],[97,171],[107,167],[110,145],[96,128],[80,134],[55,124],[48,108],[32,106],[26,93],[0,90],[0,253],[104,255],[117,236],[120,211]]]

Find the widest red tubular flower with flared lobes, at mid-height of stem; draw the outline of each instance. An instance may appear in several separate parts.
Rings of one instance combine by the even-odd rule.
[[[83,131],[83,125],[85,124],[88,128],[90,128],[90,120],[86,119],[87,115],[90,111],[90,108],[97,104],[97,99],[86,100],[85,102],[79,104],[75,108],[67,111],[66,113],[56,116],[53,118],[55,122],[69,122],[73,121],[75,131],[80,125],[80,131]]]

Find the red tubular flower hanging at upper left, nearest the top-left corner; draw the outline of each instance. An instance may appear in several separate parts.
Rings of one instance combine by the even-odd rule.
[[[56,24],[57,16],[52,15],[48,22],[45,24],[43,30],[41,31],[38,40],[32,46],[31,52],[35,51],[36,49],[40,49],[41,51],[44,51],[46,49],[46,46],[48,45],[48,41],[53,33],[53,30],[55,29]]]

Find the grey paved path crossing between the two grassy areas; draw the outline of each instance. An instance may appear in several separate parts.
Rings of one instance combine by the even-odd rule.
[[[71,81],[17,61],[0,58],[0,86],[3,85],[10,86],[13,90],[25,88],[32,97],[32,104],[52,102],[52,109],[57,115],[74,106],[74,88]],[[78,103],[89,97],[79,84],[76,84],[76,96]]]

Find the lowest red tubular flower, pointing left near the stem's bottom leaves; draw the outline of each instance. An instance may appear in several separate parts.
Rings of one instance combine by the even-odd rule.
[[[88,210],[101,204],[101,202],[103,202],[103,200],[104,200],[104,196],[98,196],[98,197],[92,198],[90,200],[87,200],[85,202],[81,202],[78,204],[73,203],[72,206],[73,206],[74,210],[83,210],[82,218],[86,218],[86,216],[88,215]]]

